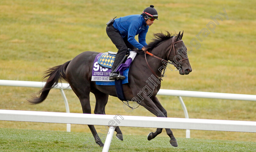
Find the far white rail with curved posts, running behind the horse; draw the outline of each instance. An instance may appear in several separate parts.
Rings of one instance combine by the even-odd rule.
[[[14,80],[0,80],[0,86],[20,86],[20,87],[38,87],[41,88],[45,85],[44,82],[32,82],[32,81],[14,81]],[[69,113],[69,105],[66,99],[63,89],[71,90],[68,83],[59,83],[56,89],[61,90],[62,98],[66,106],[66,112]],[[182,100],[182,96],[185,97],[197,97],[197,98],[211,98],[211,99],[227,99],[227,100],[246,100],[256,101],[256,95],[247,94],[233,94],[233,93],[211,93],[211,92],[199,92],[199,91],[182,91],[182,90],[165,90],[160,89],[157,95],[165,96],[177,96],[181,106],[183,108],[185,118],[189,118],[187,108]],[[95,124],[96,125],[96,124]],[[67,124],[67,131],[70,132],[70,124]],[[190,130],[186,130],[186,138],[190,138]]]

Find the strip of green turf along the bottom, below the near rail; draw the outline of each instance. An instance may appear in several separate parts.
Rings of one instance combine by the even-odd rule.
[[[0,129],[1,151],[102,151],[94,142],[90,141],[90,133],[74,133],[61,131]],[[169,144],[168,137],[156,137],[148,141],[146,136],[124,135],[124,140],[113,138],[109,151],[111,152],[253,152],[256,150],[254,142],[203,140],[178,138],[178,147]]]

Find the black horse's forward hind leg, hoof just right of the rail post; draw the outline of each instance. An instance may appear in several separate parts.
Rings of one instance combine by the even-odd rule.
[[[95,114],[106,114],[105,113],[105,106],[108,103],[108,94],[102,93],[98,90],[92,91],[92,93],[94,93],[94,96],[95,96],[95,99],[96,99],[94,113]],[[106,125],[108,125],[108,124],[106,124]],[[121,132],[121,130],[119,129],[118,126],[116,127],[115,131],[116,131],[116,137],[119,140],[123,141],[123,134],[122,134],[122,132]]]

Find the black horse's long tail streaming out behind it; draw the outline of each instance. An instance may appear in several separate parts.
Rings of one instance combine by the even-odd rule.
[[[43,79],[48,77],[45,86],[37,93],[38,96],[37,94],[34,94],[32,95],[32,98],[27,99],[27,101],[31,104],[38,104],[43,102],[47,98],[49,91],[54,88],[59,81],[66,81],[66,69],[70,61],[62,65],[49,68],[47,71],[45,71],[45,76]]]

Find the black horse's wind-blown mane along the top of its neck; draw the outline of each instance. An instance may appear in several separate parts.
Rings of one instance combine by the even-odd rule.
[[[156,46],[158,46],[160,43],[164,42],[165,40],[171,39],[174,34],[169,33],[168,31],[165,31],[165,33],[154,33],[154,38],[152,39],[152,42],[150,42],[147,46],[147,50],[150,52],[152,49],[154,49]],[[139,54],[144,54],[142,50],[137,51]]]

